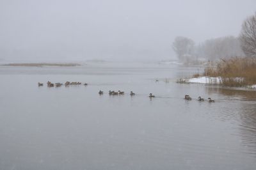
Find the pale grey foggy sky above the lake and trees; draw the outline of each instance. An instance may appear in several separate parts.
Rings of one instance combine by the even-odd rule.
[[[0,0],[0,59],[173,59],[175,36],[197,43],[237,36],[255,7],[255,0]]]

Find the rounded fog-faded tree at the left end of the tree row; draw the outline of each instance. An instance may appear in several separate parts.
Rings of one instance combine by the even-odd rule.
[[[188,62],[189,58],[193,56],[195,42],[184,36],[177,36],[172,47],[180,61]]]

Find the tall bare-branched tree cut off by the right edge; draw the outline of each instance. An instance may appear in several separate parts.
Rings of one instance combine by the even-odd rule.
[[[239,39],[244,54],[256,57],[256,13],[244,20]]]

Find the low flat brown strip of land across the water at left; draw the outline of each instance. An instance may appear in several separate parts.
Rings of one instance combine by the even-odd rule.
[[[81,66],[78,63],[10,63],[2,66]]]

